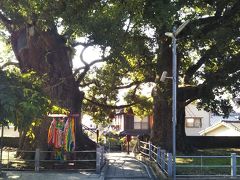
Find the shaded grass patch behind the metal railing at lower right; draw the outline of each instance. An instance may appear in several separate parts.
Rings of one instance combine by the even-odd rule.
[[[240,149],[197,149],[192,153],[179,153],[176,159],[177,175],[230,175],[231,153],[238,155]],[[237,165],[240,165],[240,158],[237,158]]]

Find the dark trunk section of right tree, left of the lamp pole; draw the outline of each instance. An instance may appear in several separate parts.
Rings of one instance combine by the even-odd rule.
[[[159,42],[158,71],[157,77],[161,77],[163,71],[167,71],[168,76],[172,74],[172,51],[169,48],[169,41]],[[153,128],[151,131],[151,141],[162,148],[172,151],[172,80],[166,79],[160,82],[156,78],[156,87],[153,89]]]

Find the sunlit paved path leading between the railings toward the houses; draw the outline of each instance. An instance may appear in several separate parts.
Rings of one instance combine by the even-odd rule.
[[[105,172],[106,180],[137,179],[149,180],[151,174],[148,167],[126,153],[106,154],[108,165]]]

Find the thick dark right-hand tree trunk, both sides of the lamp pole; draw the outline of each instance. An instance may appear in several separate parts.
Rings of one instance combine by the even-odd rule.
[[[172,51],[169,47],[169,41],[161,41],[159,52],[158,76],[161,77],[163,71],[172,76]],[[160,145],[162,148],[172,152],[172,80],[166,79],[164,83],[157,81],[153,89],[153,129],[151,132],[151,141]],[[183,96],[183,91],[181,96]],[[176,125],[176,147],[178,151],[191,150],[186,139],[185,133],[185,100],[179,97],[177,93],[177,125]]]

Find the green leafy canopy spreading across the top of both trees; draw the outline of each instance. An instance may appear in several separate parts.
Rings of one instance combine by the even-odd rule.
[[[124,80],[155,83],[157,75],[170,69],[171,57],[166,53],[170,40],[164,34],[172,31],[174,25],[179,27],[190,20],[177,37],[179,86],[198,89],[194,95],[187,93],[186,101],[200,99],[199,105],[220,113],[227,113],[229,99],[239,96],[240,63],[237,59],[240,44],[236,41],[240,26],[239,6],[238,0],[0,2],[1,12],[16,22],[18,28],[23,23],[41,30],[61,27],[69,44],[84,36],[88,43],[100,46],[103,51],[109,49],[105,66],[94,69],[81,82],[81,85],[90,84],[88,98],[105,105],[118,103],[118,87],[127,84]],[[133,100],[130,96],[139,89],[132,86],[126,99]],[[224,93],[232,96],[223,96]],[[136,100],[139,99],[150,107],[145,97],[138,94]],[[143,109],[144,104],[137,105],[138,109]],[[85,111],[96,120],[106,119],[111,113],[109,108],[89,102],[85,103]]]

